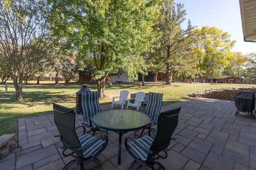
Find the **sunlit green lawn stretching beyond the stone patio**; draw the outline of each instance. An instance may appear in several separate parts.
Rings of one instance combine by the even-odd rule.
[[[66,107],[75,108],[76,92],[82,87],[80,82],[64,83],[54,85],[50,81],[29,81],[28,85],[23,85],[23,100],[16,102],[16,93],[12,82],[8,82],[8,93],[5,93],[5,84],[0,84],[0,136],[3,134],[16,133],[18,135],[18,119],[39,115],[52,114],[52,103],[57,103]],[[163,95],[163,106],[173,104],[190,98],[189,93],[207,89],[228,88],[228,87],[255,87],[255,85],[245,84],[200,84],[200,83],[172,83],[170,86],[165,82],[146,83],[139,88],[139,83],[113,84],[111,88],[106,85],[106,95],[108,97],[99,99],[100,105],[112,103],[112,97],[119,96],[121,90],[128,90],[131,93],[139,91],[148,93],[156,92]],[[91,91],[97,90],[96,84],[88,84]],[[130,95],[128,96],[130,97]],[[16,139],[17,140],[17,139]]]

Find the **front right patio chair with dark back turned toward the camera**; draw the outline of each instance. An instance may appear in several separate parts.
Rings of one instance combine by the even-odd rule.
[[[125,139],[124,145],[126,150],[135,159],[130,165],[130,170],[136,162],[139,164],[136,170],[139,170],[142,166],[149,166],[152,170],[155,170],[155,164],[166,170],[157,159],[167,158],[167,147],[170,145],[172,134],[178,125],[180,108],[160,113],[158,116],[157,133],[154,139],[148,135],[136,140],[131,137]],[[128,139],[131,142],[128,143]],[[159,153],[162,151],[164,154]]]

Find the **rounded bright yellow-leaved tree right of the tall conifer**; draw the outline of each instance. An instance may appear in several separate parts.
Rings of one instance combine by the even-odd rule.
[[[231,41],[231,35],[217,27],[196,28],[193,35],[196,39],[193,48],[197,68],[200,70],[199,75],[201,78],[210,76],[211,79],[218,76],[220,69],[225,68],[229,61],[233,60],[234,55],[230,50],[236,41]]]

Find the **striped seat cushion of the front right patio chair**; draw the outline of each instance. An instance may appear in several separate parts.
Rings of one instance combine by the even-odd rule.
[[[141,137],[139,139],[136,139],[136,141],[142,145],[143,147],[145,147],[146,149],[150,149],[150,146],[153,142],[153,139],[151,137],[149,137],[148,135]],[[129,142],[127,144],[137,155],[138,157],[143,160],[146,161],[148,158],[148,152],[140,149],[140,147],[138,147],[138,145],[136,145],[134,142]]]

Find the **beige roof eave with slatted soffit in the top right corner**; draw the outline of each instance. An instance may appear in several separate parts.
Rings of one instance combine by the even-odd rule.
[[[239,0],[244,41],[256,42],[256,0]]]

